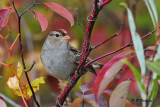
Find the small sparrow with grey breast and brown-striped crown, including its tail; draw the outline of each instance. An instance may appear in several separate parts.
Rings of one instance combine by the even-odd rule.
[[[74,74],[80,60],[81,52],[69,44],[69,39],[70,36],[64,29],[51,31],[41,51],[41,61],[44,68],[60,80],[69,79]],[[101,68],[102,66],[96,62],[85,70],[93,71],[94,68]]]

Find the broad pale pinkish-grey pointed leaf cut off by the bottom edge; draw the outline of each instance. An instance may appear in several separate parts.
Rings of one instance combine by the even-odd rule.
[[[124,81],[114,89],[109,99],[109,107],[125,107],[130,83],[131,81]]]

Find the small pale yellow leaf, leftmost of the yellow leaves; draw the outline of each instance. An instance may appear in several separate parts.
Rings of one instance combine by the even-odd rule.
[[[19,89],[19,81],[17,79],[16,76],[14,77],[10,77],[7,81],[7,85],[9,88],[11,88],[12,90],[16,90]]]

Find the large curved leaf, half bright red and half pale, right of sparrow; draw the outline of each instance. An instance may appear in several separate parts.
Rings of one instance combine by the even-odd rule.
[[[124,64],[121,60],[126,58],[126,55],[133,51],[125,51],[114,56],[99,72],[98,76],[94,81],[94,93],[96,100],[102,94],[102,92],[107,88],[109,83],[114,79],[116,74],[122,68]]]

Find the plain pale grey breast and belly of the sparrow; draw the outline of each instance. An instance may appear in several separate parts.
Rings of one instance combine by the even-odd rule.
[[[41,60],[44,68],[54,77],[62,80],[74,73],[76,65],[70,60],[67,50],[47,50],[41,53]]]

